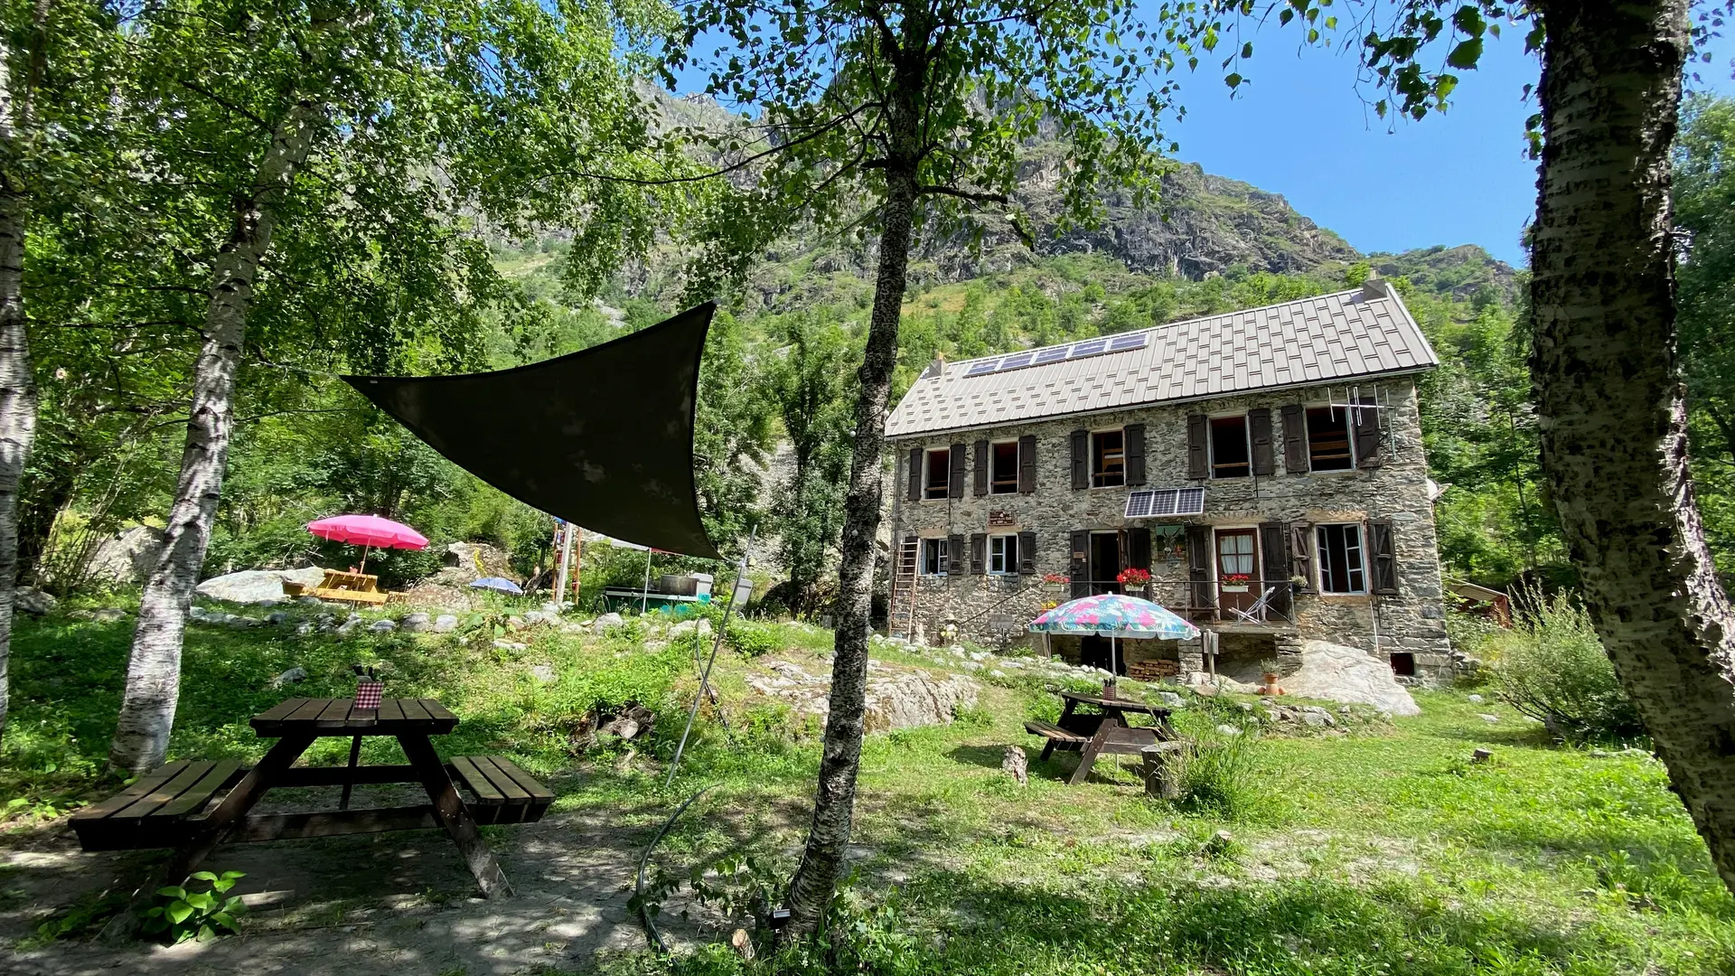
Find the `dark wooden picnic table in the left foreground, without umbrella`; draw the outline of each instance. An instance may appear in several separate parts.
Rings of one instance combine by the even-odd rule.
[[[177,761],[141,776],[121,794],[73,814],[83,849],[175,847],[161,877],[177,884],[222,842],[444,828],[482,894],[496,898],[512,894],[512,886],[477,825],[529,823],[553,801],[548,787],[500,755],[442,764],[430,736],[453,731],[458,716],[432,698],[383,698],[378,709],[356,709],[354,698],[290,698],[250,724],[260,738],[278,740],[257,766]],[[352,740],[349,766],[295,766],[323,736]],[[363,736],[394,736],[408,764],[357,766]],[[420,783],[429,802],[349,809],[357,783]],[[252,813],[267,792],[291,787],[344,787],[344,797],[338,809]],[[458,787],[475,801],[465,802]],[[224,799],[203,813],[222,790]]]

